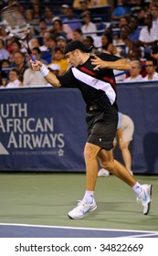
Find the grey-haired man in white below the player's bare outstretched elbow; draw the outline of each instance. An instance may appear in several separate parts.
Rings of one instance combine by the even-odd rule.
[[[129,70],[130,77],[123,80],[123,82],[135,82],[135,81],[142,81],[141,75],[141,62],[139,60],[132,60],[131,61],[132,69]]]

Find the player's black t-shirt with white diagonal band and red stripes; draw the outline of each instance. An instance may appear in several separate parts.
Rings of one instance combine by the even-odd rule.
[[[121,59],[117,56],[100,53],[100,59],[106,61],[116,61]],[[58,80],[61,87],[78,88],[87,103],[87,108],[95,104],[101,111],[108,111],[111,108],[116,108],[116,82],[113,74],[113,69],[94,69],[91,65],[90,58],[77,68],[70,68],[63,75],[59,76]]]

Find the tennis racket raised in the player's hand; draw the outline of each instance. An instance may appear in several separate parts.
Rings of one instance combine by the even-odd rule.
[[[8,5],[1,10],[1,25],[5,27],[8,36],[16,37],[20,44],[26,48],[30,59],[36,62],[28,45],[30,26],[15,5]]]

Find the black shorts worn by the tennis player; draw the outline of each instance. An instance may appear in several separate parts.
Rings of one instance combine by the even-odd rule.
[[[88,123],[88,142],[111,150],[117,131],[118,112],[105,113],[98,109],[89,111],[86,122]]]

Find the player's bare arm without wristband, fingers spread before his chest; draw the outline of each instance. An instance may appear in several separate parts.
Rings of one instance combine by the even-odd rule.
[[[94,59],[91,59],[91,64],[95,65],[95,69],[118,69],[129,70],[132,69],[131,64],[127,59],[118,59],[116,61],[105,61],[94,55]]]

